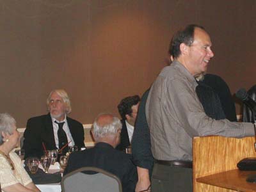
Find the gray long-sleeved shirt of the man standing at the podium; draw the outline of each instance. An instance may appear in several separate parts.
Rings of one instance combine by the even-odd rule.
[[[207,116],[195,78],[179,61],[164,67],[152,84],[146,104],[151,150],[161,160],[192,160],[192,138],[220,135],[241,138],[254,134],[250,123],[214,120]]]

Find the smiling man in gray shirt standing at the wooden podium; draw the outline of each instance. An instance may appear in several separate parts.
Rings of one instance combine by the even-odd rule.
[[[253,125],[214,120],[196,95],[195,77],[205,73],[214,56],[202,26],[189,25],[173,36],[172,64],[152,84],[146,104],[151,150],[155,158],[152,191],[192,191],[192,139],[195,136],[253,135]]]

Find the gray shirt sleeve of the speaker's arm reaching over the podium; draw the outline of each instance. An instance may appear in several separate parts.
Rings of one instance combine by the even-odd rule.
[[[175,110],[175,119],[191,136],[220,135],[241,138],[254,134],[250,123],[214,120],[204,112],[195,91],[186,82],[174,79],[168,86],[167,96],[171,102],[166,107]]]

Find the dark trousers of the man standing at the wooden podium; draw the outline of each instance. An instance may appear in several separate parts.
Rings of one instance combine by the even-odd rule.
[[[154,163],[152,192],[191,192],[193,191],[192,175],[191,168]]]

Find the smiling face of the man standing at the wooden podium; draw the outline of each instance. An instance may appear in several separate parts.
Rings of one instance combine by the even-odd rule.
[[[208,63],[214,56],[211,45],[210,36],[203,29],[195,28],[194,42],[188,46],[189,72],[193,76],[206,72]]]

